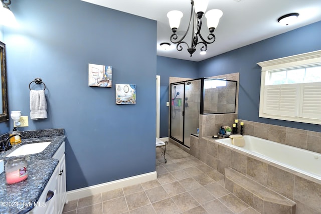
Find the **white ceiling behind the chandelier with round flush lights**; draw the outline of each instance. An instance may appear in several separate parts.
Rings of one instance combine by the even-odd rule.
[[[162,50],[162,42],[170,42],[172,30],[167,13],[172,10],[182,11],[184,16],[178,30],[179,35],[187,30],[191,11],[190,0],[82,0],[84,2],[126,12],[157,21],[157,55],[177,59],[202,61],[213,56],[321,21],[320,0],[210,0],[208,10],[220,9],[223,17],[214,31],[216,41],[208,45],[206,55],[200,55],[201,45],[192,57],[183,46],[176,50],[172,44],[169,50]],[[297,23],[282,26],[277,19],[285,14],[299,13]],[[205,19],[205,18],[204,18]],[[203,22],[204,38],[208,29]],[[202,31],[203,32],[203,31]],[[190,34],[189,34],[190,35]],[[304,38],[300,38],[304,39]],[[190,44],[191,36],[187,37]],[[299,41],[297,41],[299,42]]]

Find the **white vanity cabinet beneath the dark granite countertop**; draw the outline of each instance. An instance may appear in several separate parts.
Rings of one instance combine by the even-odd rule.
[[[65,142],[61,144],[52,158],[58,159],[56,166],[49,182],[42,192],[35,208],[31,214],[44,213],[62,213],[66,201],[66,161],[65,161]],[[53,196],[46,201],[49,195]]]

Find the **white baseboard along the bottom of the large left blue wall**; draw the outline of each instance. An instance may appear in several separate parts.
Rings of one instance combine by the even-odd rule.
[[[157,179],[156,171],[67,191],[66,203],[68,203],[68,201],[76,200],[82,197],[87,197],[87,196],[99,194],[102,192],[123,188],[126,186],[135,185],[138,183],[143,183],[143,182],[147,182],[155,179]]]

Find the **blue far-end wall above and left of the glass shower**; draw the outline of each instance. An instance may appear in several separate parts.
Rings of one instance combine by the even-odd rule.
[[[157,75],[161,76],[159,137],[168,137],[170,107],[166,106],[166,102],[170,100],[170,77],[196,79],[198,77],[197,62],[157,56]]]

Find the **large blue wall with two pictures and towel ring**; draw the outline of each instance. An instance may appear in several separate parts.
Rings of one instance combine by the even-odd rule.
[[[79,0],[11,9],[9,110],[30,115],[28,85],[43,79],[48,119],[20,130],[65,128],[67,190],[155,171],[156,22]],[[112,88],[88,86],[88,63],[112,66]],[[115,83],[136,84],[136,104],[116,105]]]

